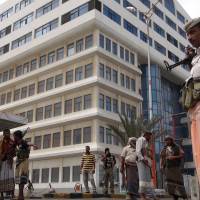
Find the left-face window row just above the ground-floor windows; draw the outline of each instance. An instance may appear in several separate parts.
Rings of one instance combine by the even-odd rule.
[[[26,141],[33,142],[37,146],[37,150],[89,143],[92,141],[92,128],[88,126],[66,130],[63,133],[48,133],[43,136],[35,136],[33,141],[32,138],[26,138]]]

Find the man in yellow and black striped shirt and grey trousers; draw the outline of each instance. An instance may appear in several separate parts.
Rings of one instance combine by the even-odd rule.
[[[86,193],[90,193],[88,181],[90,180],[93,193],[96,193],[96,185],[94,182],[93,174],[95,173],[95,155],[90,152],[90,147],[85,147],[85,153],[81,159],[81,172],[83,174],[83,182],[85,185]]]

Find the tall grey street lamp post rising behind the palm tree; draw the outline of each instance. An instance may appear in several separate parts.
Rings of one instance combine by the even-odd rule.
[[[155,6],[160,2],[161,0],[157,0],[155,4],[152,4],[152,6],[147,10],[146,12],[143,12],[144,19],[146,22],[146,31],[147,31],[147,60],[148,60],[148,116],[149,120],[153,117],[153,110],[152,110],[152,81],[151,81],[151,57],[150,57],[150,37],[149,37],[149,27],[151,22],[151,17],[153,15],[153,9]],[[126,7],[127,10],[133,12],[136,11],[135,7],[128,6]],[[152,162],[152,179],[154,186],[157,185],[156,181],[156,161],[155,161],[155,138],[153,138],[153,144],[152,144],[152,154],[153,154],[153,162]]]

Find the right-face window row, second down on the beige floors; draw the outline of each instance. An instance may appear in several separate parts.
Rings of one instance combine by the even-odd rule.
[[[102,63],[99,63],[99,76],[116,84],[119,82],[118,71]],[[120,85],[135,92],[135,80],[123,73],[120,73]]]

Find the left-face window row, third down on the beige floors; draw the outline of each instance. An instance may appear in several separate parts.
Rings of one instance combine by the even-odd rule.
[[[62,113],[69,114],[72,112],[81,111],[83,109],[89,109],[92,107],[92,95],[87,94],[84,96],[75,97],[74,99],[67,99],[64,102],[64,108],[62,107],[62,102],[59,101],[54,104],[36,108],[35,110],[29,110],[27,112],[20,113],[20,115],[26,117],[28,122],[33,122],[34,112],[35,121],[41,121],[44,119],[60,116]]]

